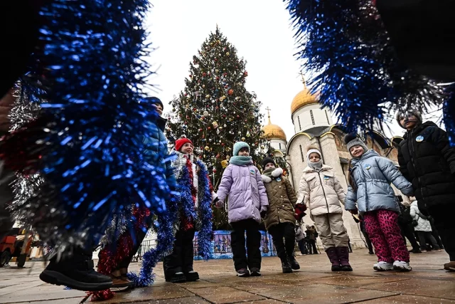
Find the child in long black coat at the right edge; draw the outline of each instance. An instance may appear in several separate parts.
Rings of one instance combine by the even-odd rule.
[[[422,122],[417,110],[397,113],[407,130],[398,149],[400,171],[412,182],[419,210],[434,219],[449,254],[446,271],[455,271],[455,149],[447,133],[434,122]]]

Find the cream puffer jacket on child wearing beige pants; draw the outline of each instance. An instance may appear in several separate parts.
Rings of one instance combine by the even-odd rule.
[[[312,216],[343,213],[340,201],[344,203],[346,193],[331,170],[326,164],[319,172],[306,167],[301,176],[297,201],[309,206]]]

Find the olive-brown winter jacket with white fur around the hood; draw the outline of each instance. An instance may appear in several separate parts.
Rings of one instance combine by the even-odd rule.
[[[266,170],[262,174],[262,182],[264,182],[269,199],[269,210],[264,219],[265,229],[267,230],[280,223],[296,224],[294,206],[297,197],[291,182],[282,174],[282,168]]]

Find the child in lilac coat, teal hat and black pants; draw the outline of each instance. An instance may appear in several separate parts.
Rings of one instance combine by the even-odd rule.
[[[234,156],[230,158],[218,187],[219,201],[216,206],[223,206],[223,201],[229,196],[228,219],[232,226],[230,243],[237,276],[250,276],[250,272],[251,276],[261,276],[259,224],[267,214],[269,201],[261,173],[250,157],[250,146],[246,142],[236,142],[233,152]]]

